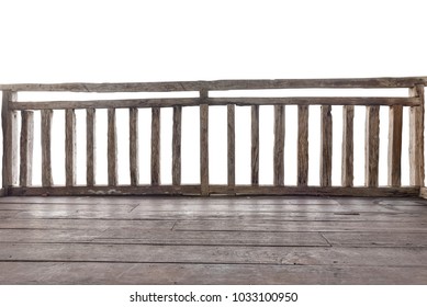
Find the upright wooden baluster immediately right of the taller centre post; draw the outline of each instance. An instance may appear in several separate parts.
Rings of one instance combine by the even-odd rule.
[[[233,193],[236,184],[236,132],[235,132],[235,105],[227,105],[227,184]]]

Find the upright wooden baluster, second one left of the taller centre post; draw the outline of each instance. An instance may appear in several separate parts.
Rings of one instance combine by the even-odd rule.
[[[151,185],[160,184],[160,109],[151,109]]]

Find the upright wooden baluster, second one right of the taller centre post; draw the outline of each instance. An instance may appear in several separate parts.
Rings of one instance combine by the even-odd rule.
[[[259,183],[259,106],[250,107],[251,126],[250,126],[250,183]]]

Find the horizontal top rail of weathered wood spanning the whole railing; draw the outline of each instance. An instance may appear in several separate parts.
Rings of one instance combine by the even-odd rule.
[[[173,92],[173,91],[224,91],[261,89],[310,88],[412,88],[427,86],[427,77],[407,78],[344,78],[344,79],[271,79],[271,80],[216,80],[176,82],[128,83],[16,83],[0,84],[9,91],[68,91],[68,92]]]

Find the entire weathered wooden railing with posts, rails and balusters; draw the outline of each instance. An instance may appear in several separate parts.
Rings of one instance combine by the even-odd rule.
[[[148,83],[63,83],[5,84],[2,90],[4,195],[91,195],[91,194],[171,194],[171,195],[361,195],[413,196],[424,186],[424,87],[427,78],[370,79],[293,79],[293,80],[222,80]],[[211,91],[262,89],[357,89],[407,88],[408,96],[265,96],[215,98]],[[16,101],[16,92],[173,92],[196,91],[198,98],[121,99],[86,101]],[[209,110],[211,105],[227,106],[227,183],[210,184]],[[251,175],[250,184],[236,184],[235,175],[235,106],[251,107]],[[259,107],[274,105],[273,184],[259,184]],[[284,185],[284,112],[286,105],[297,105],[297,181]],[[321,105],[319,185],[308,186],[308,112]],[[332,106],[342,105],[341,185],[332,185],[333,118]],[[353,186],[353,116],[355,105],[366,106],[366,184]],[[387,186],[379,186],[379,110],[384,105],[389,115]],[[182,107],[200,107],[200,184],[181,184],[181,118]],[[138,109],[151,109],[150,184],[138,182]],[[160,110],[173,109],[172,184],[160,182]],[[401,185],[402,114],[409,107],[409,186]],[[87,114],[87,183],[76,185],[76,109]],[[108,185],[95,184],[95,115],[108,110]],[[130,175],[131,184],[117,184],[117,144],[115,110],[130,110]],[[65,110],[65,185],[54,185],[52,179],[52,117],[54,110]],[[21,129],[16,114],[21,112]],[[34,112],[41,112],[42,186],[32,185]],[[356,123],[359,125],[359,123]],[[20,140],[20,141],[19,141]],[[212,148],[211,148],[212,150]]]

